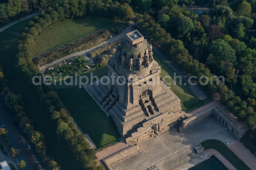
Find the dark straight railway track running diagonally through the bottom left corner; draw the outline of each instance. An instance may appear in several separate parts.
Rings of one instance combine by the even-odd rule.
[[[16,128],[16,126],[14,125],[12,119],[9,117],[9,115],[7,114],[3,104],[0,102],[0,114],[5,122],[5,124],[7,125],[11,135],[13,136],[13,138],[15,139],[15,141],[17,142],[19,149],[21,151],[21,153],[24,155],[25,159],[27,160],[30,168],[32,170],[38,170],[38,164],[36,163],[33,156],[30,153],[30,149],[27,148],[26,142],[24,141],[25,139],[23,139],[20,135],[19,132]]]

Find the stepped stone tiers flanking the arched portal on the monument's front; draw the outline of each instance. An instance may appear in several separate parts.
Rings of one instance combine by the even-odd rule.
[[[161,87],[162,89],[159,90],[155,97],[151,97],[150,95],[142,96],[142,98],[139,99],[139,104],[136,106],[131,105],[131,107],[126,109],[120,101],[117,101],[109,109],[111,116],[119,122],[120,128],[125,125],[132,126],[132,128],[127,129],[127,131],[124,130],[125,133],[132,131],[132,129],[136,131],[137,125],[144,119],[149,119],[152,116],[155,117],[160,113],[172,112],[172,110],[168,110],[168,108],[180,102],[168,86],[161,83]],[[103,105],[104,104],[103,102]]]

